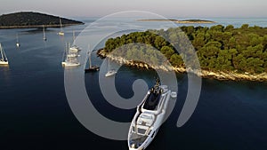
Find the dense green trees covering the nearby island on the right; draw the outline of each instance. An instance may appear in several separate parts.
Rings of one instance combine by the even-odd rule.
[[[244,24],[241,28],[217,25],[211,28],[190,26],[181,29],[189,37],[190,43],[197,51],[202,69],[250,74],[267,72],[267,28],[249,27]],[[165,54],[174,67],[184,67],[183,56],[174,51],[174,46],[166,42],[166,38],[158,36],[163,35],[168,38],[167,41],[178,45],[188,43],[175,36],[175,33],[181,32],[181,29],[169,28],[134,32],[110,38],[105,44],[104,51],[115,50],[127,43],[146,43]],[[130,51],[130,49],[132,50]],[[157,56],[143,54],[137,50],[138,47],[130,47],[130,49],[121,52],[125,53],[125,56],[138,55],[138,57],[145,57],[151,61],[158,61]]]

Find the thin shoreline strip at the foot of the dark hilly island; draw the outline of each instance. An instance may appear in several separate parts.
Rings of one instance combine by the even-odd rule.
[[[63,27],[84,25],[84,23],[71,23],[64,24]],[[44,25],[44,28],[60,28],[61,25]],[[0,26],[0,29],[14,29],[14,28],[43,28],[43,25],[30,25],[30,26]]]

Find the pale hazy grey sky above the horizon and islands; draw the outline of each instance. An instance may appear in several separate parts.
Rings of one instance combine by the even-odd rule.
[[[1,0],[0,14],[26,11],[62,17],[146,11],[175,18],[267,18],[267,0]]]

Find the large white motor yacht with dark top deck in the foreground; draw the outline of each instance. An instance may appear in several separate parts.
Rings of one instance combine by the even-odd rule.
[[[157,79],[154,87],[148,91],[142,103],[137,107],[128,132],[130,150],[144,150],[155,138],[159,127],[164,122],[166,107],[171,91],[166,85],[160,85]]]

